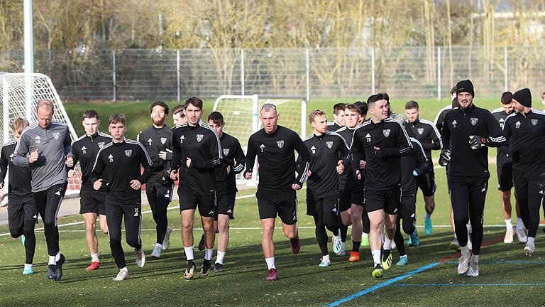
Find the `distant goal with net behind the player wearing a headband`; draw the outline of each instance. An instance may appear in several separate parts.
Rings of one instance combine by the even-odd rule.
[[[263,128],[259,120],[260,107],[275,104],[280,118],[278,124],[296,131],[301,138],[307,133],[307,97],[277,95],[223,95],[216,99],[213,111],[224,116],[224,131],[241,142],[246,153],[250,136]],[[254,168],[257,169],[257,168]],[[253,181],[244,181],[243,174],[237,177],[238,184],[255,185]]]

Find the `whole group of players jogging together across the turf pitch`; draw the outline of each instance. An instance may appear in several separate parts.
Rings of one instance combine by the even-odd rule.
[[[124,220],[126,242],[134,248],[136,265],[143,267],[141,242],[141,186],[156,223],[156,243],[151,257],[161,257],[170,246],[167,207],[177,189],[182,217],[182,243],[192,279],[194,259],[193,222],[199,210],[204,234],[202,276],[224,271],[229,244],[229,220],[234,218],[236,174],[253,177],[257,157],[259,181],[255,193],[263,227],[262,248],[268,265],[266,280],[278,278],[272,236],[276,217],[290,239],[293,254],[301,248],[297,230],[297,190],[307,181],[307,215],[314,217],[316,240],[321,250],[319,266],[331,264],[329,230],[334,252],[345,254],[348,226],[352,225],[352,250],[348,260],[360,258],[360,246],[370,245],[372,275],[379,278],[392,265],[393,248],[408,263],[401,230],[409,235],[409,246],[418,246],[415,227],[417,189],[425,202],[424,231],[431,235],[434,212],[434,165],[431,151],[440,150],[439,165],[446,166],[451,198],[453,249],[461,249],[458,274],[478,276],[483,240],[483,213],[488,190],[488,147],[497,147],[497,176],[507,231],[505,243],[513,242],[510,190],[517,199],[517,229],[524,253],[534,253],[539,208],[545,191],[545,114],[532,109],[528,89],[503,93],[502,108],[489,112],[473,104],[470,80],[451,90],[452,104],[441,109],[434,123],[419,117],[417,102],[405,104],[404,119],[392,112],[390,97],[371,95],[366,102],[335,104],[334,121],[325,112],[309,114],[313,132],[302,140],[278,125],[274,104],[263,104],[263,129],[248,140],[246,156],[240,142],[226,134],[221,113],[211,112],[202,122],[203,102],[197,97],[173,109],[174,127],[165,121],[169,107],[164,102],[150,106],[153,124],[125,138],[123,114],[109,117],[109,134],[99,131],[99,114],[84,112],[85,134],[71,143],[65,124],[52,122],[53,103],[38,102],[37,123],[13,120],[14,141],[4,144],[0,156],[0,182],[9,168],[9,228],[12,237],[23,237],[26,262],[23,274],[33,274],[34,225],[38,214],[44,223],[48,245],[48,279],[62,278],[65,257],[60,253],[57,213],[79,162],[82,172],[80,213],[84,216],[86,240],[91,254],[87,271],[99,269],[96,235],[97,217],[109,236],[111,253],[119,268],[116,281],[128,279],[121,247]],[[369,115],[369,117],[368,117]],[[544,147],[544,148],[542,148]],[[295,158],[297,151],[297,160]],[[246,170],[245,170],[246,168]],[[143,169],[143,171],[142,171]],[[1,186],[0,186],[1,188]],[[526,234],[523,226],[528,230]],[[384,234],[382,234],[384,232]],[[211,266],[214,241],[219,233],[216,262]]]

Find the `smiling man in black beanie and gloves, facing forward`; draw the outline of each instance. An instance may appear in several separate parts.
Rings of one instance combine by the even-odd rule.
[[[490,111],[473,104],[473,83],[463,80],[456,85],[460,108],[445,116],[441,165],[450,162],[448,185],[461,247],[458,274],[479,276],[480,244],[483,242],[483,213],[488,189],[488,147],[507,145],[500,124]],[[468,210],[469,209],[469,210]],[[469,211],[469,212],[468,212]],[[468,248],[466,222],[471,222],[473,252]],[[472,255],[473,254],[473,255]]]

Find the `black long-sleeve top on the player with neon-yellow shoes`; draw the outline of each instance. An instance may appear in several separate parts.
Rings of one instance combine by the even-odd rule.
[[[380,148],[375,151],[374,147]],[[365,189],[391,190],[401,186],[401,156],[411,153],[407,131],[393,119],[360,124],[354,131],[352,154],[355,161],[365,165]]]

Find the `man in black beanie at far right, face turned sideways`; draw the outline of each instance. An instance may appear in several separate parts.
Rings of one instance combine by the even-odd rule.
[[[514,113],[503,130],[513,159],[514,191],[528,229],[524,254],[532,256],[539,226],[539,205],[545,192],[545,113],[532,109],[527,88],[513,94]]]

